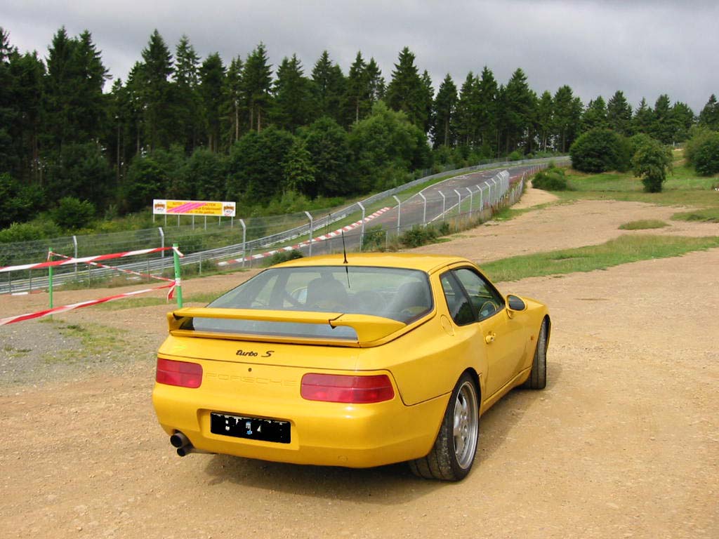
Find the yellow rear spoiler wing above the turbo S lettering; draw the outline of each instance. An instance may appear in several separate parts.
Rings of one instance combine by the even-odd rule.
[[[403,322],[393,320],[392,318],[384,318],[383,316],[363,315],[363,314],[347,314],[347,313],[316,313],[304,310],[260,310],[260,309],[224,309],[211,307],[188,307],[174,310],[168,313],[168,326],[170,333],[173,335],[191,336],[193,331],[187,331],[180,328],[183,322],[188,318],[223,318],[230,320],[252,320],[265,322],[293,322],[306,324],[329,324],[336,328],[339,326],[348,326],[357,333],[357,341],[347,341],[345,346],[372,346],[385,337],[392,335],[406,328]],[[219,334],[213,334],[218,337]],[[200,336],[200,335],[197,335]],[[232,338],[242,338],[241,335],[233,334]],[[257,340],[257,335],[247,336],[252,340]],[[282,338],[278,336],[267,336],[262,340],[277,341],[298,341],[298,338]],[[301,341],[312,341],[301,338]],[[324,339],[323,341],[326,341]],[[338,341],[333,344],[344,344]],[[379,344],[379,343],[377,343]]]

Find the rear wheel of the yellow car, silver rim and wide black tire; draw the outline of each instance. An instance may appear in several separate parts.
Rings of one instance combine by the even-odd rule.
[[[470,473],[480,434],[478,395],[474,379],[465,372],[452,390],[429,455],[409,462],[413,474],[424,479],[461,481]]]

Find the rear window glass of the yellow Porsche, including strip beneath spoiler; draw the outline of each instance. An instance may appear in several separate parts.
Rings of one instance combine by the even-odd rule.
[[[208,307],[354,313],[411,323],[429,313],[434,304],[425,272],[386,267],[313,266],[270,268],[217,298]],[[357,338],[352,328],[331,328],[329,324],[216,318],[196,318],[192,324],[198,331]]]

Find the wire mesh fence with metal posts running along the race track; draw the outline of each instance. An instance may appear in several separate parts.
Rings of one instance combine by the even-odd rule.
[[[549,160],[532,160],[512,162],[511,165],[524,165],[526,175],[539,167],[546,167],[547,162]],[[411,194],[418,186],[431,183],[446,175],[446,172],[425,176],[344,208],[234,219],[192,219],[190,216],[178,219],[173,216],[168,219],[168,224],[163,220],[161,226],[152,229],[0,244],[0,294],[47,287],[47,270],[4,272],[1,267],[42,262],[47,259],[50,250],[76,258],[178,244],[186,254],[183,265],[189,266],[191,271],[202,272],[228,259],[245,267],[256,266],[262,264],[266,253],[294,247],[301,242],[304,244],[299,248],[303,254],[328,254],[341,252],[343,248],[366,250],[368,246],[379,245],[377,238],[380,235],[388,245],[394,238],[416,226],[449,223],[456,227],[462,221],[469,223],[486,220],[500,206],[513,203],[518,196],[517,186],[521,184],[523,188],[523,179],[516,178],[515,183],[510,183],[509,173],[503,171],[490,180],[482,180],[482,183],[474,185],[455,188],[450,184],[467,180],[472,172],[497,165],[495,162],[455,170],[460,174],[454,176],[452,181]],[[531,165],[531,168],[527,168],[527,165]],[[402,200],[398,195],[403,193]],[[384,207],[390,207],[391,210],[381,219],[365,222],[372,211]],[[347,226],[354,228],[344,233],[344,245],[340,236],[318,239]],[[132,263],[119,267],[147,274],[169,275],[172,262],[170,255],[162,252],[133,259]],[[76,280],[90,285],[94,280],[106,279],[110,275],[114,275],[114,270],[71,264],[56,270],[55,282],[62,284]]]

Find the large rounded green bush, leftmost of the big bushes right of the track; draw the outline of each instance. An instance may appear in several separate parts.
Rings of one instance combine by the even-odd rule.
[[[581,172],[628,170],[631,149],[625,137],[610,129],[590,129],[569,147],[572,167]]]

